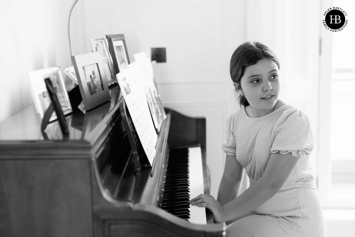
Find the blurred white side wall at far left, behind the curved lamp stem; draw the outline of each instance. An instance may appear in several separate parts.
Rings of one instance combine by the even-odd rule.
[[[28,72],[71,66],[67,18],[72,0],[2,1],[0,12],[0,121],[33,103]],[[85,52],[81,1],[72,12],[73,54]]]

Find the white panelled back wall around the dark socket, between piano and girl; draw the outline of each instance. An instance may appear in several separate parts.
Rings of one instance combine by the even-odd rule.
[[[129,57],[166,47],[166,63],[154,65],[165,107],[207,119],[211,194],[217,191],[225,155],[228,115],[239,109],[228,71],[231,54],[245,41],[245,1],[85,2],[88,38],[123,33]]]

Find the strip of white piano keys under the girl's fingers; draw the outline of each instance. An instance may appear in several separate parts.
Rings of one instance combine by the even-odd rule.
[[[201,147],[189,148],[189,182],[190,182],[190,199],[203,194],[203,173],[202,173],[202,153]],[[206,208],[190,205],[191,223],[207,225]]]

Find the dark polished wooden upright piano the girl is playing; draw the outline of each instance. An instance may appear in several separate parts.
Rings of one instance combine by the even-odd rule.
[[[227,236],[208,209],[206,120],[166,109],[149,164],[118,86],[40,131],[34,106],[0,123],[0,236]],[[130,140],[131,139],[131,140]]]

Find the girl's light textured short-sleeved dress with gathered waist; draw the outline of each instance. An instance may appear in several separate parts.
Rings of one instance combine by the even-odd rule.
[[[228,225],[229,236],[326,236],[309,158],[314,138],[308,116],[292,105],[260,118],[250,118],[242,108],[228,118],[226,135],[222,150],[245,168],[250,185],[262,177],[271,153],[301,156],[272,198]]]

